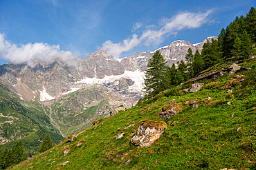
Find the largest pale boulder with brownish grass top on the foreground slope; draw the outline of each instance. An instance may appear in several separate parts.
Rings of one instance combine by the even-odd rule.
[[[165,122],[143,120],[138,126],[137,133],[131,138],[131,143],[139,147],[149,147],[160,138],[166,128]]]

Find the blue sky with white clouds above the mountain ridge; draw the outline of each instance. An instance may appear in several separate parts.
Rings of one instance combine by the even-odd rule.
[[[0,64],[86,57],[101,47],[122,58],[176,40],[199,43],[255,5],[255,0],[0,0]]]

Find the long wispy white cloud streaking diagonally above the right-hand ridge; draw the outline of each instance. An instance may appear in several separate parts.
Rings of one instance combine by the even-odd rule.
[[[209,22],[208,16],[213,10],[208,10],[205,13],[192,13],[192,12],[180,12],[171,19],[161,19],[161,26],[155,25],[146,26],[140,37],[137,34],[133,34],[131,39],[125,39],[122,43],[113,43],[112,41],[106,41],[103,43],[102,48],[111,52],[117,58],[122,52],[132,50],[139,44],[150,45],[152,43],[158,45],[163,42],[164,38],[171,34],[176,35],[179,30],[199,28],[203,23]],[[140,28],[142,24],[135,23],[134,28]]]

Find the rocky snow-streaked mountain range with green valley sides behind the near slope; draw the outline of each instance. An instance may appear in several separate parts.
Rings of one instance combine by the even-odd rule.
[[[217,39],[217,36],[207,39]],[[174,41],[158,49],[167,64],[185,61],[190,47],[201,52],[203,44]],[[55,144],[69,134],[91,127],[91,122],[110,116],[112,109],[130,108],[143,98],[144,72],[154,52],[136,52],[116,59],[100,49],[86,58],[69,61],[0,65],[0,143],[10,148],[17,140],[34,156],[44,136]]]

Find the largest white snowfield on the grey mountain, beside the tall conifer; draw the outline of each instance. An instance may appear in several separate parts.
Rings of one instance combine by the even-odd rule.
[[[103,85],[106,83],[111,83],[116,80],[119,80],[120,78],[129,78],[132,81],[134,81],[134,85],[129,86],[129,90],[131,90],[131,91],[142,92],[143,88],[145,87],[145,85],[144,85],[145,72],[140,72],[139,70],[136,70],[135,72],[125,70],[124,74],[105,76],[102,79],[95,78],[95,77],[93,77],[93,78],[85,77],[81,81],[75,82],[75,84],[86,83],[86,84]]]

